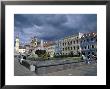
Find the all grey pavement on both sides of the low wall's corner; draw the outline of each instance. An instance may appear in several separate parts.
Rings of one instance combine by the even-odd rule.
[[[29,71],[26,67],[19,64],[18,60],[15,59],[14,63],[14,75],[15,76],[36,76],[34,72]],[[58,72],[52,72],[48,74],[42,74],[42,76],[96,76],[97,75],[97,64],[84,64],[79,63],[74,69],[67,69]]]

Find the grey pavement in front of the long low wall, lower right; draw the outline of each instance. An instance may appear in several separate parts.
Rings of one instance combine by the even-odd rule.
[[[97,76],[97,64],[79,64],[74,69],[48,73],[45,76]]]

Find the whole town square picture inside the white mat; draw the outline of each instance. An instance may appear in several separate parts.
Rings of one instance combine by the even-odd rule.
[[[96,14],[15,14],[15,76],[97,76]]]

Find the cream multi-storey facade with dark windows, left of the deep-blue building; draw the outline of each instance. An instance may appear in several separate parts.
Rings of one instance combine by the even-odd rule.
[[[72,36],[65,37],[58,41],[60,55],[78,55],[81,52],[80,38],[82,34],[78,33]]]

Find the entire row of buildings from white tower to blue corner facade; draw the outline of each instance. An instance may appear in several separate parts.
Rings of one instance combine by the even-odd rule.
[[[31,39],[30,44],[24,47],[20,45],[18,37],[15,39],[15,51],[18,53],[31,53],[36,50],[46,50],[50,57],[59,55],[79,55],[81,53],[97,55],[97,34],[96,33],[78,33],[64,37],[57,41],[38,40],[35,37]]]

